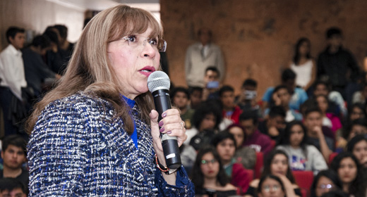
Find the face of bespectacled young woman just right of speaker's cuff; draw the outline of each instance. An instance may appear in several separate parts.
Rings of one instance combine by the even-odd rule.
[[[212,153],[205,153],[200,161],[200,169],[206,178],[215,178],[219,172],[219,162]]]

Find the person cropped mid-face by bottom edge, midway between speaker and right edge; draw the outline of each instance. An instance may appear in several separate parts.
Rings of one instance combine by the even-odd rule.
[[[261,177],[258,186],[259,197],[284,197],[285,192],[284,184],[279,177],[272,174]]]

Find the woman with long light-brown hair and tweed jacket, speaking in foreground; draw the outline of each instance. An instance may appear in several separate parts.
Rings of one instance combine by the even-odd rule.
[[[194,196],[183,167],[166,167],[159,137],[185,141],[179,110],[157,122],[148,93],[162,37],[139,8],[118,5],[90,20],[65,75],[28,120],[30,196]]]

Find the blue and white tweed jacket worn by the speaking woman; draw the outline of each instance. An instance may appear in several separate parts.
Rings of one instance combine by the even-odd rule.
[[[28,144],[30,196],[194,196],[183,167],[176,186],[156,170],[150,125],[135,105],[138,148],[111,103],[79,92],[50,103]]]

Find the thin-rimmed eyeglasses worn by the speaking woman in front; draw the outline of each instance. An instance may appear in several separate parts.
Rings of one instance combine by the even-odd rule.
[[[137,47],[140,45],[145,46],[145,42],[148,42],[153,48],[157,49],[160,52],[166,52],[167,42],[164,39],[159,38],[143,38],[139,35],[129,35],[123,37],[122,39],[128,42],[128,46]]]

